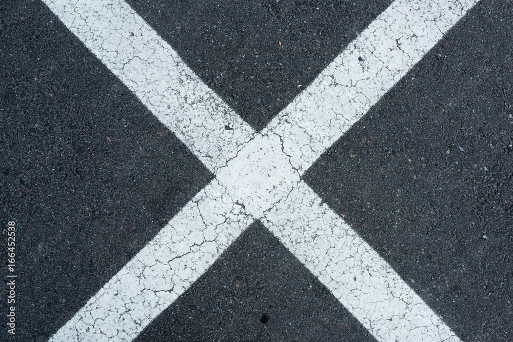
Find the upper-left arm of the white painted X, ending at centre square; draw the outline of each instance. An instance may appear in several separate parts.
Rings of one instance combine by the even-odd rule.
[[[254,133],[125,2],[43,1],[210,171]]]

